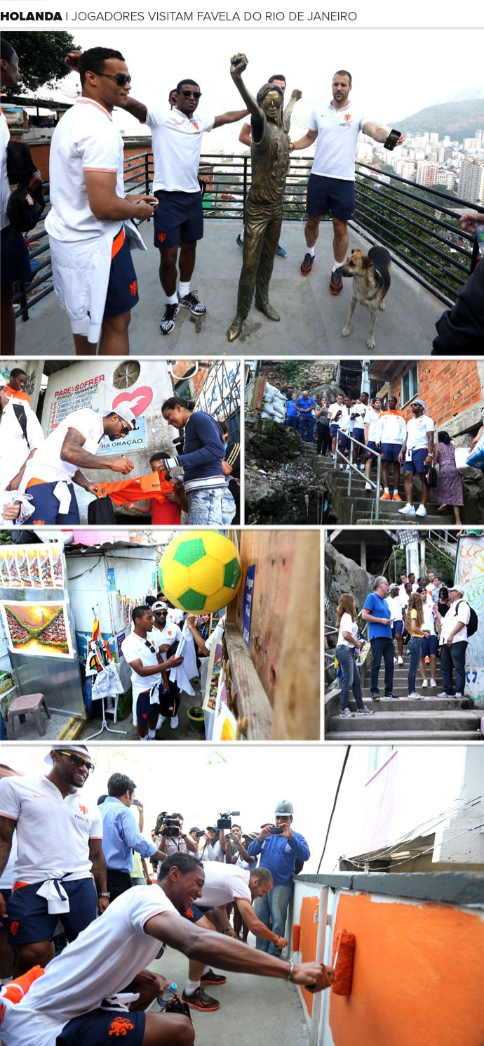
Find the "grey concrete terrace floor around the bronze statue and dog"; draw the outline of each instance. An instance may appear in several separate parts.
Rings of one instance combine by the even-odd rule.
[[[197,251],[192,289],[207,305],[202,319],[181,310],[174,332],[162,337],[159,322],[165,296],[158,277],[158,251],[153,246],[152,223],[140,227],[146,251],[135,251],[134,262],[140,288],[139,304],[133,310],[130,326],[130,355],[169,356],[191,359],[204,356],[248,356],[269,359],[283,357],[428,357],[432,351],[435,323],[444,305],[396,265],[384,313],[376,321],[376,347],[369,350],[368,310],[356,305],[353,329],[342,337],[346,322],[351,280],[343,280],[343,293],[328,291],[332,265],[332,227],[321,225],[316,262],[310,276],[302,276],[305,253],[302,222],[284,222],[281,244],[286,258],[275,258],[271,281],[271,302],[280,314],[271,322],[252,308],[241,337],[229,343],[227,331],[235,316],[241,251],[235,244],[240,224],[228,219],[208,219],[204,240]],[[349,230],[349,249],[368,251],[370,244]],[[199,346],[199,348],[198,348]],[[27,322],[17,320],[16,351],[22,358],[74,356],[74,345],[66,314],[52,292],[32,308]]]

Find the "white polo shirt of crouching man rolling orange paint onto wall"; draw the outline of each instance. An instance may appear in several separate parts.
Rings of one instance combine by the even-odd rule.
[[[158,955],[160,940],[147,934],[144,927],[148,919],[164,912],[182,918],[157,885],[149,889],[133,886],[116,897],[101,919],[94,919],[62,955],[48,963],[43,977],[34,981],[21,1003],[6,1006],[2,1025],[5,1042],[11,1046],[55,1046],[68,1021],[122,993]],[[114,1019],[116,1011],[112,1016]],[[122,1016],[130,1017],[125,1010]]]

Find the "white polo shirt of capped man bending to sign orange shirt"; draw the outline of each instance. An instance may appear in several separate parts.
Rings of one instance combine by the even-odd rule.
[[[72,414],[57,425],[56,429],[47,436],[41,447],[36,451],[33,458],[28,461],[23,477],[23,488],[32,476],[42,479],[46,483],[55,483],[59,480],[70,483],[72,476],[77,472],[78,465],[71,464],[70,461],[61,460],[62,445],[66,438],[68,429],[75,429],[84,436],[83,450],[90,454],[97,454],[105,438],[102,428],[102,415],[91,407],[83,410],[74,410]]]

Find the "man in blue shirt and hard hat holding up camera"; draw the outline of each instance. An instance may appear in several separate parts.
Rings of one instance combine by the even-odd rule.
[[[257,897],[254,911],[264,926],[271,925],[274,933],[284,937],[287,908],[293,892],[293,876],[296,861],[304,862],[310,857],[309,847],[303,836],[293,832],[293,803],[282,799],[277,803],[274,814],[276,828],[273,824],[261,827],[257,839],[248,847],[250,857],[260,854],[259,865],[269,868],[274,879],[272,890],[264,897]],[[281,949],[276,943],[256,938],[256,948],[271,955],[280,955]]]

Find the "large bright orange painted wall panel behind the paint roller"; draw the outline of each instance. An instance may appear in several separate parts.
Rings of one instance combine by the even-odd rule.
[[[330,997],[335,1046],[483,1046],[481,915],[343,894],[343,928],[356,948],[351,995]]]

